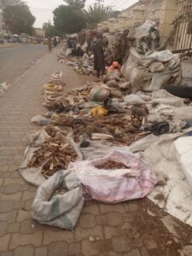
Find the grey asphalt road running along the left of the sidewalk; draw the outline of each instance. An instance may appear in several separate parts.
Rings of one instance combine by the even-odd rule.
[[[48,49],[46,45],[21,45],[0,49],[0,83],[13,83]]]

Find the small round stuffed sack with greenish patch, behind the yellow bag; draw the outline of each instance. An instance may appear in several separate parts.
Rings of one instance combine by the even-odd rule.
[[[90,90],[89,99],[92,102],[105,102],[108,100],[109,90],[100,87],[94,87]]]

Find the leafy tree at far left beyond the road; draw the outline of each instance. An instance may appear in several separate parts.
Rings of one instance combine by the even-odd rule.
[[[9,5],[3,9],[4,23],[10,32],[15,34],[27,33],[32,35],[35,17],[25,3]]]

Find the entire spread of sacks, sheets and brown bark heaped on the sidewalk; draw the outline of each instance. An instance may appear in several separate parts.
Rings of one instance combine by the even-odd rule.
[[[183,148],[189,138],[192,150],[192,104],[163,90],[179,81],[179,55],[131,49],[122,73],[125,78],[114,70],[100,83],[67,93],[61,73],[44,85],[49,113],[32,121],[45,127],[20,166],[22,177],[39,187],[32,204],[38,222],[73,230],[84,200],[117,203],[148,196],[192,225],[192,178]],[[51,210],[55,201],[58,212]]]

